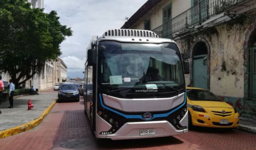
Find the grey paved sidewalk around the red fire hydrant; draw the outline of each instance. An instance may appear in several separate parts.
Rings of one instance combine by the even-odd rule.
[[[9,100],[0,105],[0,131],[10,129],[27,122],[30,122],[38,118],[42,112],[50,106],[57,98],[57,92],[45,91],[39,95],[28,95],[14,99],[13,108],[7,108],[10,106]],[[28,109],[28,100],[32,101],[34,105],[33,110]]]

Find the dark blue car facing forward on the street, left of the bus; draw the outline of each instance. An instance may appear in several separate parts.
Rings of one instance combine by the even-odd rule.
[[[58,101],[74,100],[79,102],[80,95],[77,86],[73,83],[65,83],[61,86],[58,93]]]

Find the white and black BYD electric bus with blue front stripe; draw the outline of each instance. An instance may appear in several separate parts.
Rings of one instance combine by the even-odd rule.
[[[87,51],[85,113],[96,138],[135,139],[188,131],[177,44],[147,30],[106,31]]]

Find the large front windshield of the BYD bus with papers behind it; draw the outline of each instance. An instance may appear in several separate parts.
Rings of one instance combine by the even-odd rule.
[[[180,51],[174,43],[103,41],[99,45],[105,47],[99,48],[98,59],[99,82],[104,88],[168,92],[167,86],[178,90],[185,87]]]

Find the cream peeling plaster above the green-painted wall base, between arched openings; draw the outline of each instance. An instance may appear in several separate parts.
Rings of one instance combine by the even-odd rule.
[[[243,47],[245,33],[253,25],[252,18],[247,17],[243,25],[229,21],[226,24],[216,26],[215,29],[209,29],[211,31],[205,30],[195,33],[191,36],[189,45],[182,39],[176,40],[181,50],[189,53],[190,57],[193,45],[200,39],[209,43],[210,90],[217,95],[244,96]],[[254,23],[256,23],[255,20]]]

